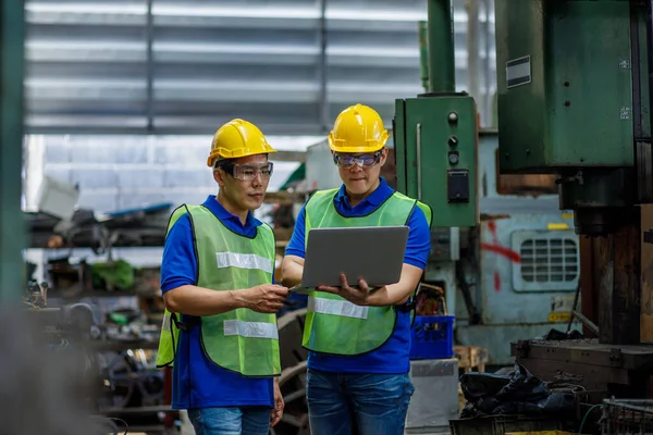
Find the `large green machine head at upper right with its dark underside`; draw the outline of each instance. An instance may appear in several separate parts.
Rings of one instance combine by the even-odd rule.
[[[649,7],[495,2],[501,171],[559,174],[582,235],[652,201]]]

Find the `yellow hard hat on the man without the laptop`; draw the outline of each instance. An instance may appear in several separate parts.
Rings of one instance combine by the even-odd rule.
[[[237,159],[246,156],[276,152],[263,133],[245,120],[231,120],[215,132],[207,165],[213,166],[215,159]]]

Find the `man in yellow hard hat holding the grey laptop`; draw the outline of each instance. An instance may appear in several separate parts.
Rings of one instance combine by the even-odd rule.
[[[307,399],[313,435],[403,435],[414,391],[408,301],[431,249],[431,210],[394,191],[380,176],[389,134],[381,116],[356,104],[337,116],[329,135],[343,185],[318,190],[297,215],[282,263],[282,283],[300,283],[310,228],[408,225],[398,283],[370,289],[342,277],[308,297],[303,346],[309,350]],[[365,246],[360,254],[365,256]],[[361,310],[360,307],[365,307]]]

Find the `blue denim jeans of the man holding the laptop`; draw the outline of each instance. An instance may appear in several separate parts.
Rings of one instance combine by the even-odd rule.
[[[404,435],[415,391],[406,374],[337,374],[308,370],[312,435]]]

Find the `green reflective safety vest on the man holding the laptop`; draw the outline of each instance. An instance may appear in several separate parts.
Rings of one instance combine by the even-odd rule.
[[[431,208],[397,191],[370,214],[344,217],[333,203],[337,190],[318,190],[306,203],[305,243],[311,228],[407,225],[415,206],[431,226]],[[370,352],[392,336],[396,320],[395,307],[360,307],[338,295],[315,290],[308,297],[303,346],[343,356]]]

